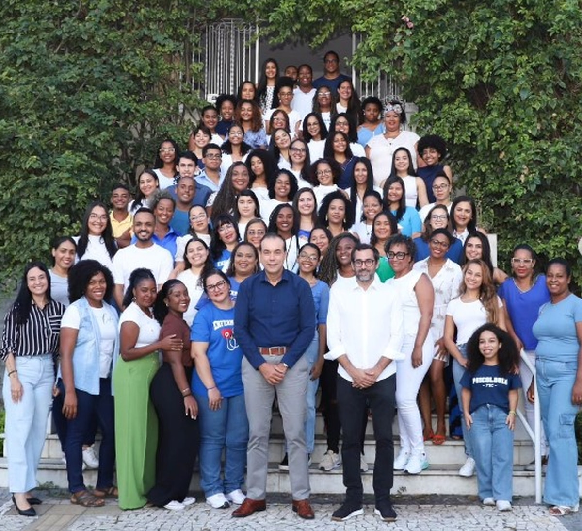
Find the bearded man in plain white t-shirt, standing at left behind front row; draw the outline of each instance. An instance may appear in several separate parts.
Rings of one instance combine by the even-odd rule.
[[[158,285],[158,291],[166,280],[174,261],[172,255],[164,247],[153,242],[155,218],[149,208],[140,208],[133,215],[133,233],[136,243],[119,249],[113,257],[113,281],[115,282],[115,302],[123,310],[123,292],[129,286],[129,275],[138,267],[149,269]]]

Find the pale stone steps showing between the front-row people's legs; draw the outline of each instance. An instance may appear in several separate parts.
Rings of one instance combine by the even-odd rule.
[[[395,452],[399,451],[398,423],[393,425],[395,433]],[[313,464],[310,469],[311,490],[314,494],[342,494],[345,492],[342,483],[342,470],[323,472],[317,469],[317,463],[327,450],[324,435],[324,422],[318,413],[316,417],[315,450],[312,456]],[[0,435],[3,437],[3,435]],[[98,444],[98,441],[97,443]],[[375,457],[375,444],[372,435],[372,423],[368,421],[366,439],[364,445],[365,459],[370,463],[370,471],[363,473],[364,492],[372,493],[372,468]],[[465,478],[458,475],[458,470],[464,462],[464,449],[462,441],[447,440],[443,445],[426,444],[426,452],[430,468],[416,476],[403,472],[395,472],[393,493],[399,494],[450,494],[450,495],[474,495],[477,493],[477,480],[475,477]],[[289,474],[280,472],[278,463],[285,453],[282,422],[279,413],[274,413],[271,425],[271,443],[269,444],[269,473],[267,489],[272,493],[289,493]],[[534,472],[524,469],[527,463],[533,460],[533,445],[528,440],[523,426],[518,422],[513,447],[513,490],[514,495],[533,496],[535,494]],[[8,470],[6,457],[0,458],[0,487],[8,486]],[[84,472],[88,485],[94,485],[97,480],[96,470]],[[42,458],[38,470],[39,483],[52,483],[55,486],[66,488],[66,467],[61,461],[61,444],[56,434],[47,435],[42,451]],[[192,476],[191,488],[199,490],[198,474]],[[580,491],[582,495],[582,488]]]

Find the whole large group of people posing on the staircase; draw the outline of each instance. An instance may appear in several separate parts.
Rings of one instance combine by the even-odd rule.
[[[521,244],[510,277],[494,267],[473,199],[452,197],[445,141],[403,130],[400,101],[360,102],[335,52],[324,72],[313,80],[300,65],[279,77],[267,59],[257,86],[202,110],[189,150],[162,141],[133,198],[115,185],[111,208],[94,201],[79,236],[55,240],[50,270],[25,268],[1,350],[19,514],[41,502],[30,491],[51,401],[73,504],[112,497],[124,509],[181,510],[195,501],[199,456],[211,507],[262,511],[276,395],[279,468],[293,511],[312,519],[321,388],[318,467],[343,463],[346,486],[332,518],[363,510],[371,413],[375,511],[393,521],[393,470],[421,473],[425,443],[446,440],[449,364],[466,451],[459,473],[476,470],[482,502],[511,509],[523,387],[529,419],[531,401],[541,403],[544,500],[552,514],[577,510],[582,300],[569,291],[569,265],[552,260],[544,276]],[[537,395],[520,351],[535,363]],[[84,452],[97,430],[90,491]]]

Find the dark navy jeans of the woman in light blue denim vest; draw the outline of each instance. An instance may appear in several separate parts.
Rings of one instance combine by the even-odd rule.
[[[95,487],[98,490],[105,490],[113,486],[115,422],[113,420],[111,378],[100,378],[99,384],[100,392],[98,395],[91,395],[88,392],[75,389],[77,416],[67,421],[65,455],[67,456],[69,490],[72,493],[87,490],[83,481],[83,443],[95,417],[97,417],[102,435],[99,447],[99,472]]]

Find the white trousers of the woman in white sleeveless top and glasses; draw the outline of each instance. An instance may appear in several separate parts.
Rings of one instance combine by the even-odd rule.
[[[402,352],[406,357],[396,362],[396,408],[398,408],[400,448],[409,454],[421,454],[424,452],[423,422],[416,397],[424,376],[431,367],[434,342],[429,332],[423,345],[423,364],[414,369],[411,361],[414,339],[404,337]]]

